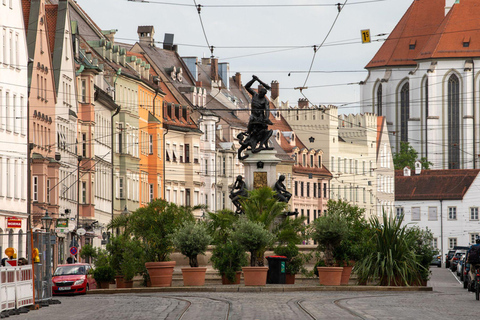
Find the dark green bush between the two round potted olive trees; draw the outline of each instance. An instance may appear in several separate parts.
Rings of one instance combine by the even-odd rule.
[[[217,244],[210,261],[222,276],[222,284],[240,284],[242,267],[248,265],[245,249],[232,241]]]

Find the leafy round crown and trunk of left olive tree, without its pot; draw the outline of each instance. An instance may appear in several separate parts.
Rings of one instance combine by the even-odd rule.
[[[188,258],[190,267],[198,267],[197,256],[205,254],[212,237],[203,222],[187,221],[173,236],[173,244]]]

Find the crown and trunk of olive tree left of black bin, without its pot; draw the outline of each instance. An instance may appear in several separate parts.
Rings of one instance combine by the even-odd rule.
[[[232,241],[237,242],[250,252],[250,266],[258,265],[258,252],[265,250],[274,240],[273,234],[266,230],[262,224],[240,218],[234,226]],[[263,261],[262,261],[263,262]],[[263,264],[262,264],[263,265]]]

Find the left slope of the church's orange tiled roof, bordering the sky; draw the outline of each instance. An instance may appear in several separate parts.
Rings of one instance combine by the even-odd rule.
[[[444,17],[444,1],[414,0],[365,68],[416,65],[415,59]]]

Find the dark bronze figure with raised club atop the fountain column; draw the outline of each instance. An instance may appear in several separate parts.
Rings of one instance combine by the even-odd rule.
[[[258,81],[263,88],[255,92],[251,87],[252,84]],[[252,76],[246,85],[245,89],[252,95],[252,104],[250,119],[248,120],[247,132],[240,133],[237,138],[240,141],[241,147],[238,150],[238,159],[244,160],[248,156],[241,155],[242,151],[247,149],[251,150],[252,153],[257,153],[262,150],[273,150],[273,148],[268,146],[268,141],[272,136],[273,131],[268,130],[268,126],[273,123],[268,118],[270,115],[269,102],[267,97],[267,89],[271,89],[270,86],[260,79],[257,76]]]

